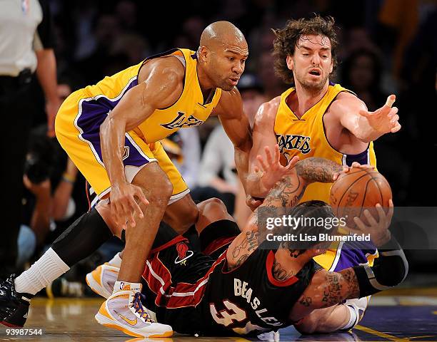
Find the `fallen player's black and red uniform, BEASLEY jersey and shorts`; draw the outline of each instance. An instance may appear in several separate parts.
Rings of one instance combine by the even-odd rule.
[[[179,333],[204,336],[256,335],[293,324],[291,309],[320,266],[311,260],[296,276],[278,281],[273,277],[275,251],[263,249],[264,243],[228,271],[227,248],[240,231],[228,220],[214,224],[201,232],[203,253],[176,232],[152,250],[142,292],[154,319]],[[215,237],[202,244],[208,235]]]

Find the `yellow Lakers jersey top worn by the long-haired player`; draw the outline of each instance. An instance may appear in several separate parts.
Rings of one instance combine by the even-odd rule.
[[[328,142],[323,129],[323,115],[338,93],[349,91],[339,84],[330,83],[323,98],[306,113],[298,118],[288,107],[286,99],[295,89],[290,88],[281,94],[281,101],[276,113],[274,131],[281,154],[287,161],[298,155],[300,160],[308,157],[323,157],[341,165],[351,165],[352,162],[376,166],[373,142],[358,155],[345,155],[335,150]],[[319,199],[329,203],[329,191],[332,183],[313,183],[308,185],[301,199],[305,202]]]

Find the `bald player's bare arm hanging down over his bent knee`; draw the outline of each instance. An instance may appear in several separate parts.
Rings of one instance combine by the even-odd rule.
[[[111,212],[121,228],[135,225],[133,212],[143,216],[135,197],[147,204],[139,187],[129,184],[122,155],[125,134],[154,113],[176,102],[182,93],[184,67],[176,58],[156,58],[139,73],[139,84],[124,95],[100,127],[101,153],[111,181]]]

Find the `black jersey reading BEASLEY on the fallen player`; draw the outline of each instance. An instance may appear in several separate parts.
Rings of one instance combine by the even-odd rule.
[[[258,334],[293,323],[288,318],[291,308],[319,267],[311,260],[296,276],[278,281],[273,277],[274,257],[272,250],[256,249],[228,271],[226,252],[221,255],[201,301],[203,323],[211,334]]]

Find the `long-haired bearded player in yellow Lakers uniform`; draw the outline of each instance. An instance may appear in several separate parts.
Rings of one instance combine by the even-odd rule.
[[[324,157],[341,165],[353,162],[376,166],[373,140],[386,133],[396,133],[398,108],[391,106],[395,96],[388,97],[383,107],[368,112],[366,104],[351,90],[330,80],[337,66],[338,41],[332,17],[288,21],[274,31],[275,70],[284,82],[293,87],[280,96],[263,103],[253,126],[253,147],[250,154],[247,190],[252,197],[265,197],[288,167],[278,165],[277,177],[261,175],[258,156],[271,159],[264,147],[281,152],[286,165],[299,157]],[[270,177],[271,181],[262,178]],[[318,199],[329,202],[331,184],[308,185],[301,202]],[[358,264],[372,263],[378,251],[371,243],[336,243],[316,257],[318,264],[329,271],[339,271]],[[366,309],[367,299],[350,302],[351,311]]]

